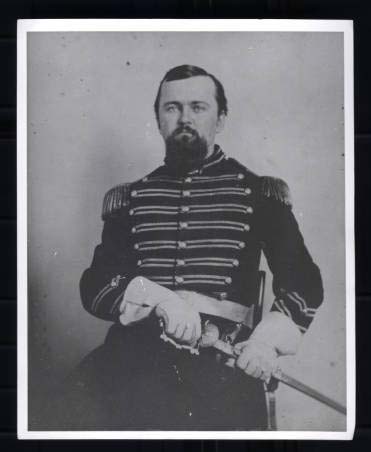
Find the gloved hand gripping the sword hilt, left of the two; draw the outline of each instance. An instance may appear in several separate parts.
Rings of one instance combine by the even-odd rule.
[[[160,302],[156,314],[164,321],[165,333],[177,342],[193,346],[201,337],[200,314],[180,298]]]

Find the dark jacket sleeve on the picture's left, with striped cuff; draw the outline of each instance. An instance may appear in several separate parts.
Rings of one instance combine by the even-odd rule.
[[[96,317],[117,321],[119,307],[132,279],[128,206],[107,211],[104,200],[104,227],[101,243],[95,248],[93,261],[80,280],[84,308]]]

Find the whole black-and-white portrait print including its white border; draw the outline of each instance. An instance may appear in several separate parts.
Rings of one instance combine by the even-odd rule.
[[[20,438],[352,437],[352,39],[19,21]]]

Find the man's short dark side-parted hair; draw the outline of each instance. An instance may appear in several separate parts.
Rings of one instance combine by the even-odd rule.
[[[182,66],[176,66],[166,72],[164,78],[161,80],[160,86],[158,87],[156,100],[154,104],[155,114],[157,122],[159,123],[159,106],[160,106],[160,96],[161,87],[164,82],[171,82],[173,80],[183,80],[186,78],[197,77],[198,75],[204,75],[210,77],[215,85],[215,98],[218,104],[218,115],[228,113],[227,98],[225,97],[223,85],[219,80],[212,74],[209,74],[198,66],[192,66],[190,64],[183,64]]]

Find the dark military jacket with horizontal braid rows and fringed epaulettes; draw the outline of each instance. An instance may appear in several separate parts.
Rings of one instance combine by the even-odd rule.
[[[111,189],[102,242],[80,282],[84,307],[118,321],[132,278],[251,305],[263,251],[273,274],[272,310],[305,332],[322,302],[320,271],[304,244],[285,182],[259,177],[216,146],[185,175],[166,165]]]

